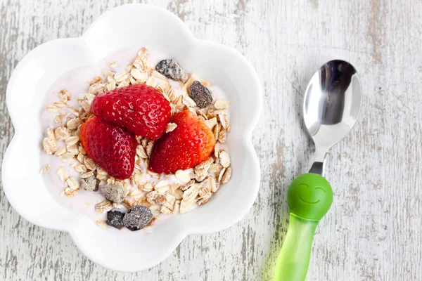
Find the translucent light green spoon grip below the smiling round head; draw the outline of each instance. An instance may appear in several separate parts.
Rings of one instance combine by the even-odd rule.
[[[305,280],[318,221],[290,214],[287,235],[277,259],[274,281]]]

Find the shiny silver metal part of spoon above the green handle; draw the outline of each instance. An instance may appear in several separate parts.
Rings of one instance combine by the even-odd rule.
[[[353,65],[330,60],[314,74],[305,91],[303,117],[315,143],[309,172],[324,176],[326,152],[341,141],[359,117],[362,86]]]

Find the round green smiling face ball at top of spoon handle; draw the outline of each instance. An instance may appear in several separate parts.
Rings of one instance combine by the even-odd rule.
[[[333,190],[323,176],[303,174],[290,184],[287,200],[290,213],[319,221],[331,207]]]

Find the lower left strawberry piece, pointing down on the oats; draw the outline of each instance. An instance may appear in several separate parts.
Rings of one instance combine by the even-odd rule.
[[[87,155],[110,176],[132,176],[137,145],[134,133],[94,117],[82,125],[80,138]]]

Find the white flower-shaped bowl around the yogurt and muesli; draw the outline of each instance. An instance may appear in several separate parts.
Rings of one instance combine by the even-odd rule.
[[[149,234],[143,230],[99,228],[92,218],[59,204],[39,174],[40,156],[44,153],[40,116],[51,85],[66,72],[94,65],[127,46],[167,53],[187,72],[218,85],[231,103],[232,129],[227,143],[233,169],[231,181],[207,204],[171,216],[154,225]],[[54,98],[51,95],[52,102]],[[6,102],[15,127],[2,170],[8,201],[27,221],[68,232],[89,259],[106,268],[133,272],[155,266],[186,235],[214,233],[234,225],[257,197],[260,166],[251,143],[262,108],[257,74],[240,53],[195,39],[184,22],[168,11],[141,4],[120,6],[101,15],[82,37],[56,39],[38,46],[15,68]],[[73,199],[78,200],[77,195]]]

